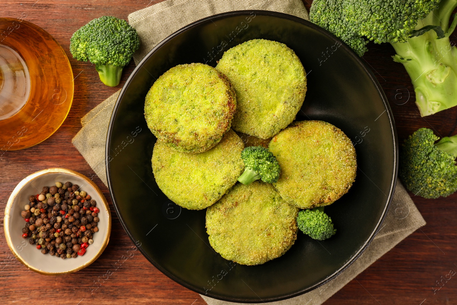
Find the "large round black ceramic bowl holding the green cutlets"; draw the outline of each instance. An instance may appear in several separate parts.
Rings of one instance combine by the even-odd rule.
[[[308,73],[296,120],[324,120],[354,142],[357,177],[349,193],[325,208],[337,233],[315,241],[298,232],[282,257],[235,265],[209,246],[205,210],[181,209],[157,187],[151,168],[156,138],[144,97],[177,64],[215,66],[224,51],[254,38],[285,43]],[[238,302],[282,300],[315,289],[347,268],[372,241],[392,198],[397,139],[387,99],[362,60],[329,32],[270,11],[234,11],[196,21],[159,43],[133,71],[112,114],[106,169],[114,207],[143,255],[177,283],[200,294]]]

